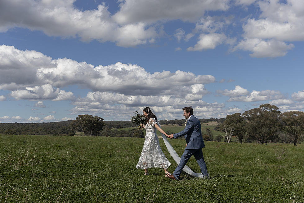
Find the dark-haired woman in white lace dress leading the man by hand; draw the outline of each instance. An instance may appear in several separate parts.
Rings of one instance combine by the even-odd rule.
[[[145,175],[149,175],[148,168],[163,168],[166,176],[166,174],[169,173],[167,168],[171,163],[160,148],[156,129],[165,136],[168,135],[157,125],[157,118],[149,107],[144,108],[143,114],[146,118],[146,122],[145,125],[141,124],[141,126],[146,129],[146,135],[141,157],[139,158],[136,168],[144,169]],[[169,174],[171,175],[171,173]]]

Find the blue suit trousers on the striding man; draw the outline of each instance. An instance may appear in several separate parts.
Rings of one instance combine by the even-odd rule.
[[[179,176],[181,175],[181,172],[183,170],[183,168],[185,167],[185,165],[187,164],[188,160],[190,159],[190,157],[194,155],[197,163],[199,164],[199,167],[201,168],[201,172],[203,173],[204,176],[207,176],[207,166],[204,160],[204,156],[203,156],[203,150],[202,148],[200,149],[185,149],[183,155],[181,155],[181,161],[178,164],[178,166],[176,167],[173,176],[175,178],[179,178]]]

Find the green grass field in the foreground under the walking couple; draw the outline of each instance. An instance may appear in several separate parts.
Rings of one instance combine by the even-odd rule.
[[[0,135],[0,202],[304,202],[303,144],[205,142],[210,179],[173,181],[160,168],[135,168],[143,142]],[[181,155],[185,140],[170,142]],[[199,172],[193,157],[187,165]]]

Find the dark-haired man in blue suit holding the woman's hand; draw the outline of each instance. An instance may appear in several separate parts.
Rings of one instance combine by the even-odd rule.
[[[186,127],[183,131],[169,135],[169,138],[177,138],[184,136],[186,139],[186,148],[181,155],[181,161],[177,168],[175,169],[173,175],[167,173],[167,177],[178,180],[179,176],[181,175],[181,171],[183,170],[184,166],[187,164],[188,160],[192,155],[194,155],[199,167],[201,168],[201,172],[203,173],[204,177],[208,178],[209,173],[207,173],[206,163],[203,157],[202,148],[205,147],[203,137],[202,137],[202,130],[201,124],[199,119],[193,116],[193,109],[192,107],[184,107],[184,116],[187,120]]]

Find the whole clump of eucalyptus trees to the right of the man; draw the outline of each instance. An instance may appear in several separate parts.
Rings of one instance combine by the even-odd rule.
[[[275,105],[262,104],[243,114],[227,115],[217,129],[227,142],[235,136],[240,143],[244,140],[265,145],[269,142],[297,145],[303,141],[304,112],[281,113]]]

